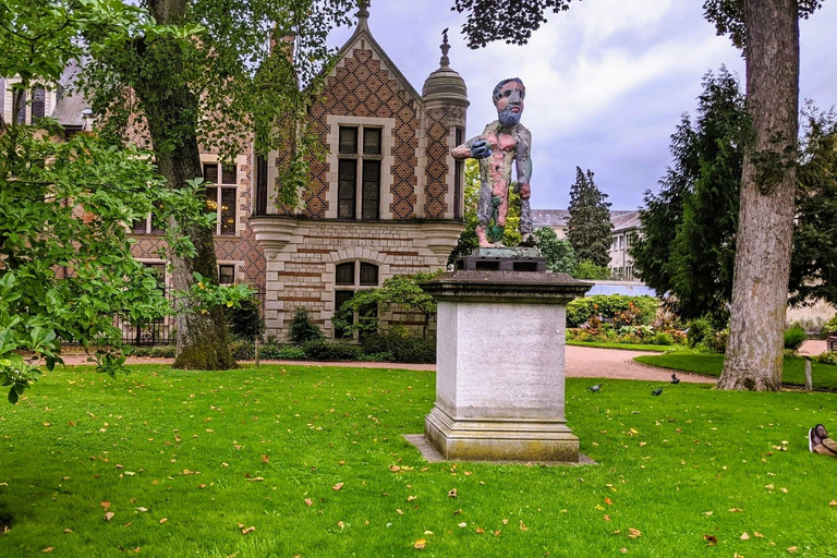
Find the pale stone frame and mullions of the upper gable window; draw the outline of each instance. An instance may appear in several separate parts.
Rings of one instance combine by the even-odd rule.
[[[328,208],[326,209],[326,219],[338,218],[338,168],[340,166],[340,159],[350,158],[347,154],[340,154],[340,128],[357,128],[357,144],[359,154],[357,160],[363,158],[373,157],[380,160],[380,197],[378,199],[379,216],[378,219],[373,221],[392,220],[392,167],[396,163],[392,156],[392,148],[395,147],[393,130],[396,128],[396,119],[393,118],[371,118],[371,117],[350,117],[329,114],[326,118],[326,124],[328,125],[328,133],[326,135],[326,144],[328,145],[328,156],[326,162],[328,163],[329,171],[326,173],[326,183],[328,184],[328,191],[326,192],[326,202]],[[364,156],[363,151],[363,129],[376,128],[380,129],[380,155],[379,156]],[[350,219],[351,221],[363,221],[362,216],[362,189],[363,189],[363,165],[357,165],[356,169],[357,181],[355,183],[355,217]]]

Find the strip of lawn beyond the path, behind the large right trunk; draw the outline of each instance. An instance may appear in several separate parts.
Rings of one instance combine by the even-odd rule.
[[[634,361],[662,368],[694,372],[706,376],[720,376],[724,367],[723,354],[706,354],[693,352],[672,352],[666,354],[642,355]],[[794,386],[805,385],[805,360],[802,357],[786,357],[781,374],[785,384]],[[811,363],[811,380],[814,388],[837,389],[837,366],[830,364]]]

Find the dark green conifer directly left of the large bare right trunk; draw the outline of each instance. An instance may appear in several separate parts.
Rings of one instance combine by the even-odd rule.
[[[695,122],[684,114],[671,136],[660,193],[645,193],[643,234],[631,255],[646,284],[674,294],[678,315],[711,315],[720,326],[732,292],[747,117],[726,68],[704,76],[698,99]]]

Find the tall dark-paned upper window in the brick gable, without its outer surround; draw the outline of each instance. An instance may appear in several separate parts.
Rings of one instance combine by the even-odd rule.
[[[381,141],[379,126],[340,126],[338,219],[380,219]]]

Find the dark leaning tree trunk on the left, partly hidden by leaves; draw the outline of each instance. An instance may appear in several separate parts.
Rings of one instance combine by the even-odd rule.
[[[148,4],[157,23],[181,23],[185,10],[183,0],[156,0]],[[159,71],[136,84],[135,88],[143,101],[160,174],[171,187],[181,189],[186,186],[187,180],[203,175],[196,133],[199,109],[197,98],[182,78],[184,62],[181,51],[173,41],[169,47],[161,47],[161,51],[165,51],[162,54],[160,50],[147,54],[158,59],[167,57],[167,63],[156,64]],[[172,287],[189,291],[194,283],[193,271],[217,283],[218,266],[213,231],[186,227],[184,233],[192,240],[196,255],[172,255]],[[175,323],[175,368],[218,371],[236,366],[230,354],[222,308],[217,307],[206,313],[186,308],[178,314]]]

